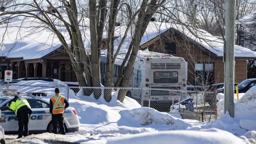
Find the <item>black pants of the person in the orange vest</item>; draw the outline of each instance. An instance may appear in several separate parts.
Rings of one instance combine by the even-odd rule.
[[[63,114],[52,114],[53,133],[57,134],[57,126],[59,122],[61,134],[66,134],[63,119]]]

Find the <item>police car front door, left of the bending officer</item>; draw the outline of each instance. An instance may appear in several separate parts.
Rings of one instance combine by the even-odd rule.
[[[4,102],[1,108],[7,107],[9,102],[11,102],[11,100]],[[18,131],[18,119],[14,111],[11,111],[10,109],[2,110],[0,125],[4,128],[4,131]]]

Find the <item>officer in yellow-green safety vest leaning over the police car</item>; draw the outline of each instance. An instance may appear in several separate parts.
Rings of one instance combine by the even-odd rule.
[[[18,118],[18,138],[28,136],[28,121],[32,113],[28,101],[20,96],[15,96],[10,104],[10,109],[15,112],[15,115]]]

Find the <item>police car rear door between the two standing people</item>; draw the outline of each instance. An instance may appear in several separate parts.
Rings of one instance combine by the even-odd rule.
[[[40,99],[27,99],[31,106],[32,114],[29,120],[29,130],[46,130],[50,121],[50,105]]]

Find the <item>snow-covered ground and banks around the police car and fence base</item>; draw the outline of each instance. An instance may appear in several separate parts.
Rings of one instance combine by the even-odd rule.
[[[20,85],[66,86],[56,80],[23,81]],[[12,89],[29,92],[47,92],[47,97],[54,95],[54,88],[11,86]],[[61,89],[61,95],[67,96],[67,90]],[[73,91],[69,91],[72,94]],[[124,103],[117,100],[117,93],[112,93],[112,100],[107,103],[101,96],[83,96],[79,92],[74,99],[69,99],[80,118],[80,130],[66,135],[52,133],[32,134],[15,139],[17,135],[5,135],[8,143],[100,143],[100,144],[150,144],[150,143],[212,143],[242,144],[256,143],[256,87],[251,88],[235,102],[235,117],[224,114],[223,95],[218,95],[219,119],[209,123],[186,120],[161,113],[140,104],[130,98]],[[129,102],[127,102],[129,101]],[[129,103],[133,103],[129,105]]]

